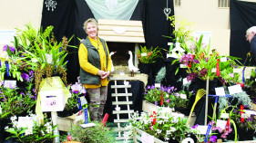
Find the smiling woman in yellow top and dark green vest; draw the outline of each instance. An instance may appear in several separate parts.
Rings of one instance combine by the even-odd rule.
[[[90,99],[91,120],[101,120],[107,100],[111,59],[107,43],[97,37],[97,21],[87,19],[84,30],[88,36],[80,43],[78,51],[80,82],[85,85]]]

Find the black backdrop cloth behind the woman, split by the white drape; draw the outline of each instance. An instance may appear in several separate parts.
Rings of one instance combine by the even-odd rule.
[[[46,0],[45,0],[46,1]],[[85,0],[56,0],[56,9],[48,11],[45,5],[42,12],[41,26],[45,29],[49,25],[54,26],[54,33],[56,40],[61,41],[65,35],[67,38],[75,34],[75,38],[69,43],[71,45],[79,44],[77,37],[85,38],[87,34],[84,32],[82,26],[87,18],[94,17]],[[171,6],[171,14],[174,14],[173,0],[168,0]],[[141,20],[145,33],[146,45],[148,47],[157,47],[169,49],[169,38],[162,35],[169,36],[173,28],[167,21],[166,15],[163,13],[167,6],[166,0],[139,0],[138,5],[131,16],[130,20]],[[69,48],[67,56],[67,81],[74,83],[77,81],[79,75],[78,49]],[[164,53],[164,52],[163,52]],[[164,66],[164,60],[158,59],[153,65],[154,76],[159,69]]]

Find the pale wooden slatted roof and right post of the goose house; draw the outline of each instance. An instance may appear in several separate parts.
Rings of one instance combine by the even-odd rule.
[[[138,52],[138,43],[145,43],[141,21],[98,19],[98,29],[98,37],[106,42],[135,43],[134,52]],[[138,67],[137,56],[134,65]]]

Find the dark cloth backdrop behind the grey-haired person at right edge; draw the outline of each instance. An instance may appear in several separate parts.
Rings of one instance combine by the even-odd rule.
[[[246,41],[246,30],[256,25],[256,3],[230,0],[230,55],[246,60],[250,52],[250,43]],[[245,65],[256,65],[250,58]]]

